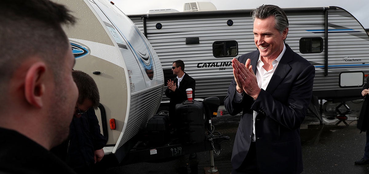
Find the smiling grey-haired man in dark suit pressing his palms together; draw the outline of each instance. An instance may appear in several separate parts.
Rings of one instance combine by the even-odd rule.
[[[301,173],[300,124],[311,100],[315,68],[284,44],[289,24],[281,8],[262,5],[252,17],[258,50],[232,60],[234,80],[224,100],[231,115],[242,111],[232,174]]]

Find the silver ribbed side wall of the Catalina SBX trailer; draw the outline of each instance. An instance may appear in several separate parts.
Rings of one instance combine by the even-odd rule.
[[[362,25],[339,7],[284,10],[289,19],[286,44],[315,66],[313,94],[337,102],[360,97],[363,75],[369,73],[369,38]],[[233,79],[231,59],[256,49],[250,12],[218,10],[128,17],[155,49],[165,81],[171,78],[172,62],[181,59],[185,72],[196,80],[197,98],[223,99]],[[340,80],[341,73],[358,71]],[[350,81],[351,77],[356,80]],[[165,95],[163,101],[168,101]]]

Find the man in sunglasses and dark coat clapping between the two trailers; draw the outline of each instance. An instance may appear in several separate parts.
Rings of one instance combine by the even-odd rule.
[[[172,71],[177,75],[174,79],[167,82],[168,88],[165,91],[166,97],[170,98],[169,102],[169,119],[170,122],[176,123],[175,106],[187,100],[186,89],[192,88],[192,98],[195,98],[195,80],[184,72],[184,63],[182,60],[173,62]]]

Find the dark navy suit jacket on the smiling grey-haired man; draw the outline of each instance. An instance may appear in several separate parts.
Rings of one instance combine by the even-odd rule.
[[[255,121],[256,157],[261,173],[301,173],[303,171],[300,124],[303,122],[311,95],[315,68],[286,44],[286,51],[266,90],[258,98],[243,93],[242,101],[234,101],[236,83],[228,88],[224,105],[231,115],[242,111],[232,152],[232,167],[237,169],[244,161],[251,143],[253,111]],[[256,72],[259,51],[238,58],[245,63],[251,59]]]

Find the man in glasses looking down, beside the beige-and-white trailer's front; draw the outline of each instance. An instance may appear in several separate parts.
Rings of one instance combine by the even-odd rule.
[[[99,90],[88,74],[73,70],[72,76],[79,96],[70,124],[69,139],[52,149],[52,152],[65,160],[77,173],[94,173],[94,164],[104,157],[103,147],[106,144],[95,115],[95,109],[100,103]]]

